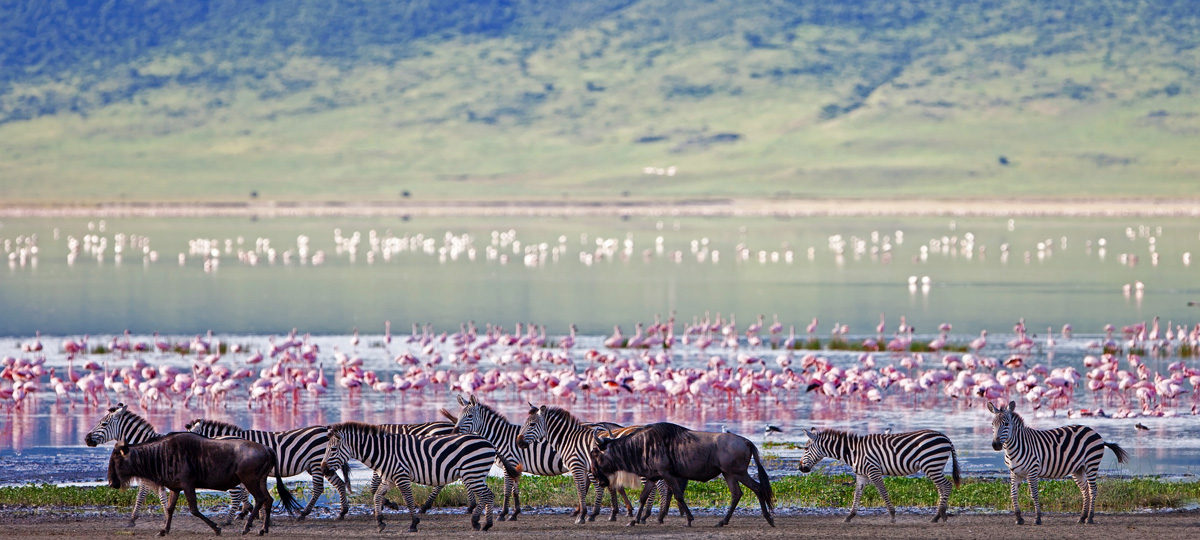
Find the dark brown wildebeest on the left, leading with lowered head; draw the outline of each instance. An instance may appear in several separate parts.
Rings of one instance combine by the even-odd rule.
[[[170,433],[142,444],[125,445],[120,442],[113,449],[108,460],[108,486],[124,488],[133,479],[152,482],[167,488],[170,497],[167,502],[166,523],[160,536],[170,532],[170,518],[175,514],[179,492],[187,497],[187,508],[192,515],[204,520],[218,535],[221,527],[200,514],[196,508],[196,490],[228,491],[239,484],[254,496],[254,511],[246,518],[242,534],[250,532],[254,515],[263,510],[263,535],[271,527],[271,493],[266,488],[266,479],[275,473],[280,502],[292,514],[300,505],[283,485],[283,479],[275,467],[275,452],[262,444],[245,439],[209,439],[196,433]]]

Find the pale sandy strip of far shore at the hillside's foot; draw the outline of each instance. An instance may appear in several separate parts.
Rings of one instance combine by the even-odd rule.
[[[671,202],[212,202],[0,205],[4,217],[1200,217],[1198,199],[680,199]]]

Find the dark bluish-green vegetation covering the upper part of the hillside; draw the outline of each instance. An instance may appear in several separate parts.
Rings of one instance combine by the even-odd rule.
[[[17,0],[0,4],[0,122],[61,112],[85,115],[164,85],[215,91],[208,107],[220,108],[221,91],[248,90],[270,100],[311,86],[311,79],[284,70],[296,56],[322,59],[344,73],[390,66],[451,41],[506,40],[530,54],[601,23],[612,23],[604,30],[606,42],[580,50],[581,59],[628,58],[647,70],[664,47],[732,36],[746,50],[787,49],[798,28],[840,30],[839,40],[803,61],[742,74],[778,84],[853,80],[821,109],[826,119],[859,107],[906,67],[952,55],[965,42],[985,43],[971,61],[1016,68],[1086,50],[1103,54],[1114,68],[1157,61],[1187,73],[1158,90],[1172,95],[1198,78],[1200,67],[1171,54],[1196,47],[1198,13],[1194,0]],[[1000,35],[1026,38],[989,41]],[[184,60],[169,70],[150,67],[163,56]],[[527,66],[517,61],[511,68]],[[953,76],[952,68],[935,66],[932,73]],[[612,83],[586,84],[602,92]],[[661,91],[666,100],[703,100],[730,89],[674,78],[665,79]],[[1104,97],[1086,82],[1058,91],[1076,100]],[[515,96],[512,107],[520,114],[544,98]],[[341,101],[347,100],[354,98]],[[322,106],[350,104],[338,101]]]

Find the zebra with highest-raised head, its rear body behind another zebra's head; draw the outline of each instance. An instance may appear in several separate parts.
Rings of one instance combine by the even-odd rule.
[[[563,467],[563,461],[558,458],[554,446],[550,443],[534,443],[520,445],[521,426],[510,422],[496,409],[480,403],[475,396],[463,400],[458,396],[462,410],[455,422],[455,431],[458,433],[473,433],[480,436],[496,446],[496,451],[505,468],[512,468],[516,474],[504,476],[504,506],[500,509],[499,520],[504,521],[509,512],[509,498],[512,498],[512,516],[516,520],[521,514],[521,473],[536,474],[541,476],[558,476],[568,470]],[[448,418],[451,415],[446,414]]]

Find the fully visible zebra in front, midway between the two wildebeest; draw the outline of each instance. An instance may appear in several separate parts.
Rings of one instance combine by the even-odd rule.
[[[370,424],[342,422],[329,426],[329,444],[320,468],[329,474],[336,463],[354,458],[383,476],[383,485],[374,492],[374,515],[380,533],[384,529],[380,514],[383,498],[391,486],[400,487],[413,520],[408,532],[415,533],[421,520],[416,517],[412,482],[444,486],[460,479],[480,503],[472,512],[472,528],[480,529],[479,517],[482,511],[487,514],[482,530],[487,530],[492,527],[492,506],[496,499],[486,479],[496,456],[492,443],[479,436],[460,433],[413,437],[388,433],[380,426]],[[520,474],[511,467],[505,473]]]

